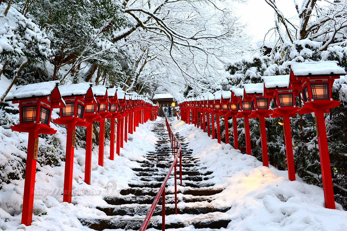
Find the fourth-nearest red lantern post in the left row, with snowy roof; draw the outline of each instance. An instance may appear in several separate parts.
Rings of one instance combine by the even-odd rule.
[[[101,116],[99,125],[99,159],[98,164],[104,166],[104,144],[105,144],[105,118],[109,117],[109,101],[107,95],[108,87],[94,86],[92,87],[96,101],[99,103],[99,115]],[[105,92],[104,96],[102,96]]]

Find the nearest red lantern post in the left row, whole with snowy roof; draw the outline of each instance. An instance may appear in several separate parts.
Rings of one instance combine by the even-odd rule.
[[[39,134],[57,132],[49,126],[52,109],[65,106],[58,84],[59,81],[50,81],[20,86],[6,97],[6,101],[19,103],[19,124],[11,126],[12,131],[29,133],[22,212],[22,224],[25,225],[31,225],[33,218]]]

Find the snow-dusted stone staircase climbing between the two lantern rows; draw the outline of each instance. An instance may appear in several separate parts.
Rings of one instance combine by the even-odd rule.
[[[174,120],[171,117],[170,120]],[[152,130],[159,137],[156,151],[149,152],[148,161],[141,163],[136,171],[136,183],[129,184],[128,189],[120,191],[118,196],[104,197],[108,206],[97,207],[105,213],[103,218],[87,217],[80,219],[83,225],[94,230],[123,229],[139,230],[164,180],[174,156],[171,152],[169,135],[165,120],[156,123]],[[226,228],[231,219],[225,218],[224,212],[230,207],[215,207],[211,204],[222,188],[213,188],[208,182],[212,172],[200,166],[199,159],[191,157],[192,150],[187,149],[186,141],[176,134],[182,145],[182,179],[183,186],[178,186],[178,214],[175,215],[175,192],[173,172],[166,185],[166,229],[178,229],[191,226],[192,229]],[[179,166],[177,168],[179,183]],[[161,199],[156,206],[147,229],[161,230]]]

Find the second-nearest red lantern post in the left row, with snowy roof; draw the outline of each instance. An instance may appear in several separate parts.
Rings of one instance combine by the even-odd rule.
[[[92,83],[78,83],[59,86],[66,106],[60,108],[60,116],[53,122],[64,124],[67,128],[63,201],[68,203],[71,203],[75,128],[76,126],[87,127],[89,125],[84,120],[84,109],[86,104],[96,104],[91,85]]]

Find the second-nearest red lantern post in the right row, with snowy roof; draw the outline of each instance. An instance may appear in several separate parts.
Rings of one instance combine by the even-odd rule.
[[[285,137],[287,168],[289,180],[295,180],[295,166],[293,156],[293,143],[291,139],[290,119],[291,116],[296,116],[298,107],[295,106],[295,97],[298,96],[298,91],[289,89],[289,75],[277,75],[262,77],[265,89],[264,96],[273,97],[275,108],[271,115],[272,118],[283,117],[283,133]],[[294,82],[290,82],[294,84]]]

